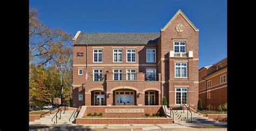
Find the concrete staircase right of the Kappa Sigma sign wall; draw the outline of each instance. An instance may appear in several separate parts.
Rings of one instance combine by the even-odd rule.
[[[168,110],[167,107],[165,107],[165,111],[166,111],[166,115],[167,117],[171,118],[172,116],[172,112],[170,115],[170,109]],[[188,117],[187,117],[187,112],[188,112]],[[213,119],[209,119],[208,117],[203,117],[203,115],[198,114],[198,113],[194,113],[191,111],[187,111],[184,110],[173,110],[174,113],[174,117],[173,117],[173,121],[174,123],[191,123],[191,113],[192,113],[192,123],[197,123],[197,124],[203,124],[203,125],[219,125],[221,124],[219,121],[215,121]]]

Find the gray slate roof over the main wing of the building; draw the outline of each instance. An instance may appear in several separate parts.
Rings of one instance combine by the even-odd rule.
[[[75,45],[156,44],[160,33],[80,33]]]

